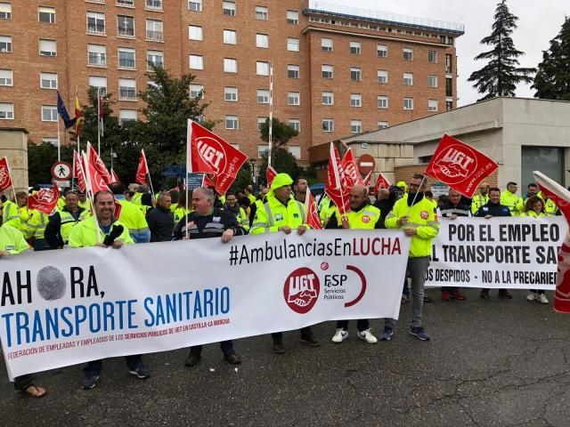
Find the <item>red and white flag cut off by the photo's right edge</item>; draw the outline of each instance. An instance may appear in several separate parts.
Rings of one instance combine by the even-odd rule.
[[[570,223],[570,191],[540,172],[533,172],[533,174],[534,180],[541,188],[542,196],[550,198],[560,209],[566,222]],[[558,251],[554,310],[570,313],[570,231],[566,232]]]

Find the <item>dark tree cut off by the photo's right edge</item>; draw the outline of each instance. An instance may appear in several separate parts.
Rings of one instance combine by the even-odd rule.
[[[542,62],[534,76],[536,98],[570,101],[570,20],[565,18],[550,49],[542,51]]]

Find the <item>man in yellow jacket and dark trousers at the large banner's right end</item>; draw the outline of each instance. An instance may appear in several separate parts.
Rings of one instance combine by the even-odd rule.
[[[425,189],[424,176],[414,173],[408,183],[408,196],[395,202],[385,222],[387,229],[402,229],[406,236],[411,237],[408,256],[412,295],[410,334],[422,341],[429,340],[429,335],[422,324],[424,283],[431,256],[431,242],[439,232],[435,209],[432,202],[424,197]],[[387,318],[380,339],[389,341],[394,334],[394,327],[395,319]]]

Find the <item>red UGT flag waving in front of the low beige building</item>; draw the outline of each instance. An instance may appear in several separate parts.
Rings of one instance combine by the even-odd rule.
[[[466,197],[473,197],[479,183],[499,166],[485,154],[444,134],[429,161],[426,173]]]

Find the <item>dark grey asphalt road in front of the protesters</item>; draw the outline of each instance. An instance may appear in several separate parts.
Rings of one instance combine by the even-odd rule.
[[[40,375],[45,399],[22,398],[4,381],[0,425],[570,425],[570,315],[526,302],[524,291],[512,301],[466,294],[426,305],[430,342],[408,334],[408,303],[391,342],[357,340],[353,322],[350,339],[333,344],[328,322],[314,327],[320,349],[297,333],[286,334],[282,356],[269,336],[236,342],[237,369],[208,345],[193,368],[183,367],[185,350],[147,356],[153,376],[145,381],[122,359],[107,360],[91,391],[80,389],[80,367]],[[377,333],[379,320],[372,327]]]

